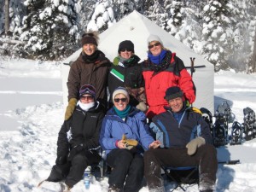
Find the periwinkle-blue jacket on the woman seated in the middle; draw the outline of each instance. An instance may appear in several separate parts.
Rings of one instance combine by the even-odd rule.
[[[108,154],[112,149],[117,148],[115,143],[122,139],[125,134],[127,139],[136,139],[138,152],[143,153],[148,149],[154,138],[150,135],[146,116],[137,108],[131,107],[131,111],[125,121],[121,119],[113,108],[108,110],[102,121],[100,144]]]

